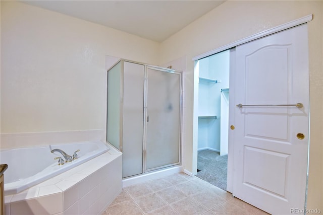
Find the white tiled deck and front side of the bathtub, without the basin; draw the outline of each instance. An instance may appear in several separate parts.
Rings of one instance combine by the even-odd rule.
[[[122,190],[114,149],[25,191],[5,196],[6,214],[100,214]]]

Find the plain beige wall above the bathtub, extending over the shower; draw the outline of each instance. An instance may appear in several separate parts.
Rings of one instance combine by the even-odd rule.
[[[1,133],[105,128],[105,55],[156,64],[159,45],[1,1]]]

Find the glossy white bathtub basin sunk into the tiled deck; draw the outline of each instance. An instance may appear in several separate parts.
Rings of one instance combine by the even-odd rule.
[[[54,158],[64,159],[64,157],[58,152],[50,153],[53,149],[63,150],[71,156],[75,151],[80,151],[77,153],[78,159],[59,166],[58,160]],[[9,167],[5,172],[5,194],[19,193],[97,157],[107,150],[109,148],[100,141],[2,150],[0,163],[8,164]]]

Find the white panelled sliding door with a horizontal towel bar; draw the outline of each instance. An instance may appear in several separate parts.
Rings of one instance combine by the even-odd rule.
[[[307,25],[236,47],[233,195],[272,214],[304,208],[309,115]]]

